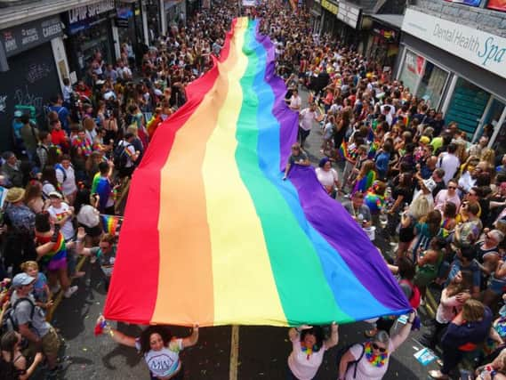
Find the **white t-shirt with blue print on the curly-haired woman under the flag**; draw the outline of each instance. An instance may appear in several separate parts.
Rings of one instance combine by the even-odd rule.
[[[135,348],[141,351],[139,339],[135,341]],[[180,352],[183,349],[182,339],[173,339],[168,347],[160,351],[150,350],[144,354],[144,360],[149,371],[156,377],[172,376],[181,368]]]

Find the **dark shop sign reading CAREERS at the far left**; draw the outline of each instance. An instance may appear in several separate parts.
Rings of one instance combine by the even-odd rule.
[[[12,55],[44,44],[62,34],[60,16],[52,16],[49,19],[27,22],[17,27],[4,29],[0,31],[0,40],[4,44],[5,55],[12,57]]]

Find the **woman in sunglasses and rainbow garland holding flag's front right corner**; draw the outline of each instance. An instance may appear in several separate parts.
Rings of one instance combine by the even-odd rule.
[[[409,336],[415,316],[412,311],[406,324],[394,336],[378,330],[371,340],[349,347],[339,363],[338,380],[381,380],[389,369],[390,355]]]

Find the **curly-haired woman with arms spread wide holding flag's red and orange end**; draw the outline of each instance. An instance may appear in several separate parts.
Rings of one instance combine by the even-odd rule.
[[[102,325],[104,322],[105,319],[100,317],[97,325]],[[137,338],[126,336],[108,327],[107,324],[103,332],[116,343],[137,349],[144,356],[152,380],[182,380],[184,371],[180,352],[197,344],[198,341],[198,325],[193,326],[191,335],[186,338],[172,336],[166,326],[149,326]]]

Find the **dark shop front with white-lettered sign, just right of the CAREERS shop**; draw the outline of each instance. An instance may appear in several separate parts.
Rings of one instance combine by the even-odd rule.
[[[89,76],[90,64],[96,53],[100,53],[102,59],[108,63],[116,61],[112,38],[115,17],[114,0],[101,0],[67,12],[68,38],[65,47],[72,70],[72,82],[76,82],[77,78]]]

